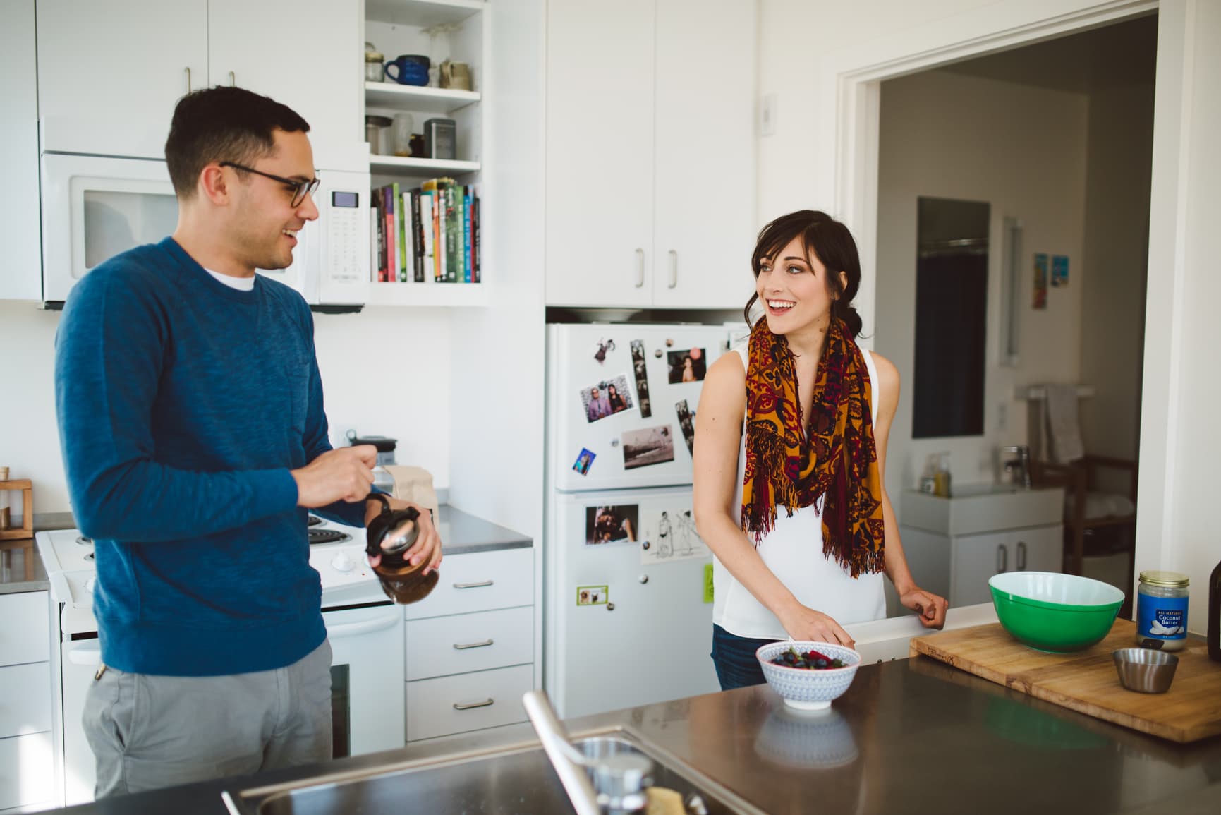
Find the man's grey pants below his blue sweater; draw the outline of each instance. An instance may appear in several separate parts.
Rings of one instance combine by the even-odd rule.
[[[98,798],[330,760],[331,644],[234,676],[107,667],[89,685],[83,723]]]

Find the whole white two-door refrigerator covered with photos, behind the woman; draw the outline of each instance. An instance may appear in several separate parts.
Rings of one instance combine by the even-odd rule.
[[[691,441],[705,374],[745,326],[547,327],[552,703],[571,718],[718,690]]]

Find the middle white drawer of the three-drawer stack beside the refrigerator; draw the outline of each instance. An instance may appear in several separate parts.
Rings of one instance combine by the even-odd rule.
[[[534,606],[407,623],[408,681],[532,661]]]

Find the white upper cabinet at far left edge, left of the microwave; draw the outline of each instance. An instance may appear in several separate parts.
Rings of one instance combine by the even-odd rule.
[[[0,299],[39,299],[38,77],[33,0],[0,0]]]

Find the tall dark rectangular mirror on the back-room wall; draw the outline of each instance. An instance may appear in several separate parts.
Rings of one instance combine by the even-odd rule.
[[[912,437],[984,431],[990,208],[917,199],[916,375]]]

